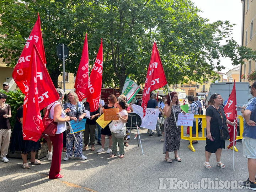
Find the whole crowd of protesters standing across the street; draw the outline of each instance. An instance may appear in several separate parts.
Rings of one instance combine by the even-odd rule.
[[[3,84],[4,91],[8,91],[9,84]],[[255,174],[256,174],[256,151],[255,146],[251,146],[249,143],[255,142],[255,96],[256,96],[256,81],[250,86],[251,94],[254,98],[249,101],[247,105],[242,106],[241,112],[245,119],[244,121],[244,133],[243,133],[243,148],[244,156],[248,158],[248,170],[249,178],[244,182],[240,182],[239,185],[246,188],[256,189]],[[57,89],[60,97],[60,101],[64,98],[64,91]],[[8,152],[9,141],[11,136],[11,126],[9,119],[11,118],[11,108],[10,105],[6,104],[7,96],[4,93],[0,93],[0,148],[1,148],[1,158],[3,162],[9,162],[6,155]],[[70,134],[70,127],[66,124],[67,121],[81,121],[86,116],[86,111],[90,111],[88,102],[80,102],[78,96],[75,92],[69,92],[67,95],[66,102],[64,103],[64,110],[61,106],[62,103],[55,101],[46,107],[50,110],[49,117],[58,123],[57,132],[54,136],[48,137],[49,154],[48,160],[52,160],[52,165],[50,167],[49,178],[62,178],[60,175],[60,162],[62,151],[66,153],[64,161],[70,160],[73,156],[76,159],[86,160],[87,158],[83,155],[82,151],[88,150],[88,146],[91,146],[91,151],[95,150],[95,144],[101,145],[101,148],[97,150],[97,153],[105,152],[105,137],[109,138],[109,146],[106,153],[111,153],[110,157],[113,158],[117,154],[117,149],[119,146],[119,158],[124,158],[124,146],[128,146],[127,143],[127,130],[126,122],[128,118],[128,113],[133,112],[132,106],[126,103],[127,98],[125,95],[120,95],[116,98],[115,95],[110,95],[108,97],[108,104],[100,104],[99,108],[90,112],[90,118],[86,121],[84,130],[84,147],[82,146],[82,132],[75,133],[75,138],[78,143],[75,142],[73,134]],[[185,105],[186,101],[183,101]],[[188,96],[188,103],[190,104],[188,108],[188,113],[193,113],[195,115],[202,114],[201,102],[198,101],[197,97],[192,95]],[[203,103],[204,104],[204,103]],[[116,116],[118,120],[111,121],[104,129],[98,129],[96,119],[104,113],[106,109],[118,108]],[[164,142],[164,160],[166,162],[172,162],[169,152],[174,152],[174,160],[181,162],[181,158],[178,156],[178,150],[180,149],[181,141],[181,127],[177,126],[178,113],[182,112],[180,103],[178,100],[178,95],[176,92],[171,92],[170,94],[163,96],[162,100],[158,103],[156,101],[156,95],[152,94],[148,102],[148,108],[159,108],[160,115],[158,122],[156,124],[156,132],[158,136],[163,136],[161,141]],[[22,167],[24,169],[29,169],[30,165],[27,163],[27,155],[31,153],[30,164],[40,165],[41,161],[35,158],[36,151],[41,148],[40,142],[27,141],[22,138],[22,113],[23,106],[17,109],[15,117],[15,126],[12,131],[12,138],[10,143],[10,151],[21,151],[22,156]],[[185,113],[185,112],[183,112]],[[196,127],[200,131],[199,123],[202,119],[194,118],[192,126],[192,136],[196,136]],[[206,110],[206,147],[205,147],[205,157],[206,161],[204,166],[207,169],[212,169],[209,158],[212,153],[216,155],[216,165],[220,168],[225,168],[225,165],[220,161],[222,149],[225,148],[225,141],[220,139],[219,124],[218,122],[226,123],[234,126],[235,122],[230,122],[226,119],[223,110],[223,99],[219,94],[213,94],[210,96],[209,106]],[[198,126],[196,126],[198,122]],[[118,128],[118,129],[117,129]],[[98,129],[97,137],[96,129]],[[149,136],[153,136],[154,130],[148,130]],[[121,137],[120,137],[121,135]],[[65,136],[65,137],[64,137]],[[97,139],[97,140],[96,140]],[[90,140],[90,143],[89,143]],[[192,141],[192,144],[198,144],[196,140]],[[53,146],[53,153],[51,151]],[[252,171],[253,170],[253,171]]]

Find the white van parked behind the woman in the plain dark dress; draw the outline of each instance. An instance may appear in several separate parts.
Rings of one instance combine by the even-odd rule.
[[[210,84],[208,101],[210,100],[210,96],[217,93],[220,94],[225,102],[225,100],[231,94],[233,89],[234,82],[220,82],[220,83],[212,83]],[[236,106],[242,107],[244,104],[247,104],[248,101],[252,98],[249,89],[249,82],[236,82]],[[241,115],[241,110],[238,108],[238,115]]]

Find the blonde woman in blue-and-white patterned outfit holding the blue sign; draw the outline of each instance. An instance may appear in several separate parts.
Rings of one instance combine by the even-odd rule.
[[[67,116],[69,116],[70,121],[81,121],[85,113],[85,107],[82,102],[79,101],[78,96],[75,92],[69,92],[68,93],[68,102],[64,104],[64,109],[69,108],[70,111],[67,113]],[[86,160],[87,158],[82,154],[82,132],[75,133],[76,140],[78,143],[75,142],[75,153],[74,156],[76,159],[82,159]],[[66,157],[63,159],[64,161],[68,161],[71,156],[73,155],[73,141],[74,141],[74,135],[70,133],[70,127],[67,126],[66,131]]]

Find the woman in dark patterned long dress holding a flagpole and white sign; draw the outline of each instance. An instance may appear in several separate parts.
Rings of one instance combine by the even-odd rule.
[[[171,98],[169,94],[166,96],[166,103],[164,107],[164,115],[167,117],[166,127],[165,127],[165,141],[164,141],[164,154],[165,161],[172,162],[169,157],[169,152],[174,151],[174,158],[176,161],[181,162],[177,151],[180,150],[180,137],[181,137],[181,126],[176,126],[175,118],[178,119],[178,113],[181,112],[180,104],[178,102],[177,93],[171,92]],[[172,107],[174,110],[172,110]]]

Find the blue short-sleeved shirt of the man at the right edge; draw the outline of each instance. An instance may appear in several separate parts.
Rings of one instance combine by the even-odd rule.
[[[256,122],[256,97],[252,98],[245,110],[250,110],[251,111],[251,116],[250,120]],[[253,139],[256,139],[256,126],[249,126],[245,121],[244,121],[244,133],[243,137],[250,137]]]

